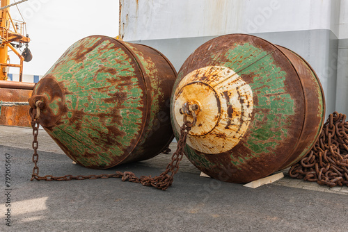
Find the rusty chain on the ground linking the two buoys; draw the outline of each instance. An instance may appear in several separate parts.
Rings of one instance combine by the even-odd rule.
[[[173,177],[179,170],[179,164],[184,155],[184,146],[186,144],[187,135],[194,126],[196,119],[193,118],[193,122],[187,121],[186,115],[184,116],[184,124],[180,128],[180,139],[177,141],[177,149],[171,157],[171,163],[166,167],[166,170],[162,172],[159,176],[141,176],[140,178],[136,177],[133,172],[116,172],[114,174],[100,174],[100,175],[65,175],[65,176],[39,176],[39,167],[38,167],[38,129],[40,126],[40,103],[41,101],[36,101],[36,108],[30,108],[31,114],[31,126],[33,128],[33,174],[31,175],[31,181],[71,181],[71,180],[85,180],[85,179],[107,179],[107,178],[121,178],[122,181],[129,181],[134,183],[141,183],[144,186],[153,186],[160,190],[166,190],[173,183]],[[194,117],[196,115],[193,113]]]

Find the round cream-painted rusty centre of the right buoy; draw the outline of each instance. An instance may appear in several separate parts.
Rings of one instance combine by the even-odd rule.
[[[232,69],[207,66],[190,72],[177,85],[177,126],[183,123],[180,109],[187,102],[198,105],[196,126],[189,132],[187,144],[205,154],[220,154],[235,147],[248,128],[253,92]]]

